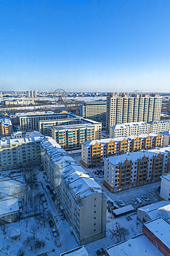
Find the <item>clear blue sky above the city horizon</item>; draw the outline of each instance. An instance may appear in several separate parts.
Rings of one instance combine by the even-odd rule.
[[[0,0],[0,90],[169,92],[170,1]]]

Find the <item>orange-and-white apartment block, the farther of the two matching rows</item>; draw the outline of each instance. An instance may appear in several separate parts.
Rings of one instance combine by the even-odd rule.
[[[81,162],[85,167],[94,167],[102,165],[104,158],[109,156],[161,146],[162,137],[160,134],[92,140],[81,144]]]

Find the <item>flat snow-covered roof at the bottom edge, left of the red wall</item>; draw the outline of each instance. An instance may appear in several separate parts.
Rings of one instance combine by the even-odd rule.
[[[163,256],[145,235],[138,235],[120,244],[106,248],[109,256]]]

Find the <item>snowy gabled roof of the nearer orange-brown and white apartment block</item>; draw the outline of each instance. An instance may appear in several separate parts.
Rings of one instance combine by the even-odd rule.
[[[153,158],[153,156],[158,156],[158,154],[162,153],[164,156],[168,156],[170,152],[170,147],[160,147],[149,150],[141,150],[133,153],[121,154],[118,156],[110,156],[109,158],[104,158],[105,161],[111,163],[111,165],[118,165],[119,163],[124,163],[125,160],[129,161],[138,161],[138,159],[142,159],[143,156],[147,156],[149,158]]]

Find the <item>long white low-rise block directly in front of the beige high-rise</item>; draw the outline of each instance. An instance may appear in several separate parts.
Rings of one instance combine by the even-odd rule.
[[[170,130],[170,121],[161,120],[153,122],[126,122],[120,125],[109,127],[109,138],[140,134],[160,134]]]

